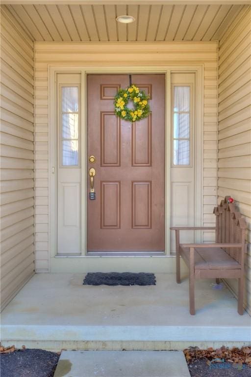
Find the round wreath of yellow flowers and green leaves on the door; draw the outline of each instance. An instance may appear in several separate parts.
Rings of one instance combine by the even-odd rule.
[[[126,106],[129,100],[133,102],[134,108]],[[150,113],[148,100],[149,96],[144,90],[139,90],[137,86],[132,84],[126,89],[120,89],[114,97],[114,112],[118,117],[129,122],[147,118]]]

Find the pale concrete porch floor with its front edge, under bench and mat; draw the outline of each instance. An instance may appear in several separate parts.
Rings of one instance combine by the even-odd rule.
[[[83,274],[35,274],[1,315],[4,346],[50,350],[181,350],[251,344],[251,317],[214,280],[196,281],[189,314],[188,279],[156,274],[156,286],[83,286]]]

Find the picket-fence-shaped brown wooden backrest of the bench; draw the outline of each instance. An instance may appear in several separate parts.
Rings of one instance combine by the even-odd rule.
[[[225,196],[221,203],[214,207],[216,215],[216,242],[243,243],[245,247],[245,234],[247,223],[237,210],[234,203],[227,203],[230,196]],[[236,247],[224,248],[227,254],[238,263],[242,263],[242,253]]]

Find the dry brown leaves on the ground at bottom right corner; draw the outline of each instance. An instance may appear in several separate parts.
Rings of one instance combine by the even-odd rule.
[[[183,352],[188,364],[196,359],[207,359],[208,361],[212,361],[219,358],[224,359],[226,362],[236,364],[245,363],[251,366],[251,347],[242,347],[241,349],[234,347],[232,349],[228,349],[222,346],[216,350],[213,348],[200,350],[199,347],[189,347]]]

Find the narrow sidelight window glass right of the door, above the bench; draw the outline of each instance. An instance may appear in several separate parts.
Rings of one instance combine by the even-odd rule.
[[[173,86],[173,165],[190,165],[191,87]]]

